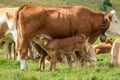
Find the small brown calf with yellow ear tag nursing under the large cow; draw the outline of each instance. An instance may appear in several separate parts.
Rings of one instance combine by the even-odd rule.
[[[42,46],[42,48],[44,48],[43,50],[47,52],[47,55],[51,62],[51,67],[50,67],[51,71],[55,70],[55,65],[57,62],[61,62],[65,58],[67,59],[69,68],[71,69],[72,68],[72,61],[71,61],[72,55],[76,57],[75,59],[78,61],[79,65],[82,64],[83,66],[84,64],[86,64],[87,60],[91,62],[90,60],[91,54],[88,53],[89,50],[87,50],[88,41],[86,40],[84,35],[63,38],[63,39],[52,39],[52,40],[47,40],[45,38],[42,38],[39,41],[39,44],[40,46]],[[78,53],[75,53],[76,51]],[[42,54],[44,53],[45,52],[43,52]],[[47,55],[46,53],[44,54],[44,57],[41,58],[41,62],[42,60],[43,61],[45,60],[45,56]],[[40,69],[41,69],[41,66],[40,66]]]

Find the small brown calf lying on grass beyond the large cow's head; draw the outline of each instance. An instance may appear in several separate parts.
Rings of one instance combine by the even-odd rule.
[[[93,46],[96,54],[109,53],[112,48],[112,38],[106,39],[105,42]]]

